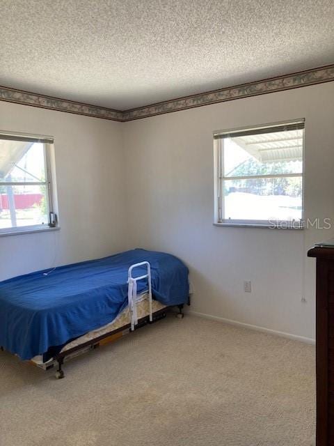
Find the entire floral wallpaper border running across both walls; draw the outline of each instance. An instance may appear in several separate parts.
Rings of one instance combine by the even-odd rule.
[[[250,82],[238,86],[232,86],[225,89],[209,91],[184,98],[158,102],[157,104],[136,109],[120,110],[97,107],[95,105],[83,104],[71,100],[53,98],[47,95],[29,93],[8,87],[0,86],[0,100],[15,102],[15,104],[31,105],[45,109],[58,110],[92,116],[94,118],[110,119],[111,121],[133,121],[134,119],[148,118],[157,114],[177,112],[179,110],[191,109],[202,105],[211,105],[228,100],[248,98],[249,96],[273,93],[275,91],[284,91],[297,89],[301,86],[321,84],[322,82],[334,81],[334,65],[315,68],[296,72],[291,75],[273,77],[258,82]]]

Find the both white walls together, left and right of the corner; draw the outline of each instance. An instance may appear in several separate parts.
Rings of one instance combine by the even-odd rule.
[[[306,252],[333,229],[212,225],[212,132],[294,118],[305,118],[305,217],[334,218],[334,83],[129,123],[0,102],[0,130],[55,137],[61,218],[60,231],[0,238],[0,280],[160,249],[189,266],[193,311],[314,338],[315,261]]]

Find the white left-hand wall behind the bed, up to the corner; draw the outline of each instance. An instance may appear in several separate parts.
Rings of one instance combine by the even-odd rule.
[[[0,102],[0,130],[54,136],[60,231],[0,237],[0,280],[123,247],[121,123]]]

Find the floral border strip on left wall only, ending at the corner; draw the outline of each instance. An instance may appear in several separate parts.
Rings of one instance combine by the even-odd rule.
[[[122,121],[122,112],[118,110],[97,107],[95,105],[83,104],[71,100],[52,98],[51,96],[29,93],[27,91],[9,89],[0,86],[0,100],[15,102],[15,104],[31,105],[44,109],[58,110],[58,112],[67,112],[93,116],[94,118],[111,119],[112,121]]]

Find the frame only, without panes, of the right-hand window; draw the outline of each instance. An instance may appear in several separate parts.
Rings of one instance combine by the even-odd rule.
[[[224,139],[230,135],[239,132],[247,132],[283,128],[285,125],[303,125],[303,157],[301,174],[265,174],[265,175],[249,175],[249,176],[224,176]],[[305,185],[305,118],[282,121],[278,123],[267,123],[262,125],[252,125],[242,128],[234,128],[229,130],[214,131],[214,225],[216,226],[234,226],[234,227],[251,227],[251,228],[271,228],[271,229],[304,229],[304,185]],[[224,185],[226,181],[233,179],[259,179],[259,178],[301,178],[301,219],[300,220],[232,220],[224,218]]]

